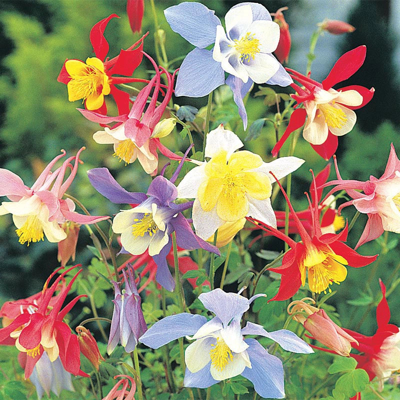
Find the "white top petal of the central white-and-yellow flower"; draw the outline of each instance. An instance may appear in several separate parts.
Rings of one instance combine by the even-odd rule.
[[[221,150],[224,150],[226,151],[226,158],[229,158],[235,150],[242,146],[243,143],[239,137],[231,130],[224,129],[223,125],[220,124],[216,129],[211,130],[207,134],[204,155],[206,157],[213,157]]]

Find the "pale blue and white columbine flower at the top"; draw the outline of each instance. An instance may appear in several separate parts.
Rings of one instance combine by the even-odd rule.
[[[172,30],[196,46],[179,68],[175,95],[202,97],[226,83],[246,128],[243,97],[252,83],[287,86],[292,82],[271,54],[279,41],[279,26],[261,4],[233,6],[225,15],[226,33],[214,11],[197,2],[174,5],[164,14]],[[207,50],[212,43],[214,48]]]

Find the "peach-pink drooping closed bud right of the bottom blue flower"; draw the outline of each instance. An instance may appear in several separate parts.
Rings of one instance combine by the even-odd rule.
[[[292,301],[287,312],[293,315],[293,319],[300,322],[314,339],[329,347],[337,354],[347,356],[351,350],[350,342],[358,344],[354,337],[346,333],[340,326],[336,325],[322,308],[318,309],[305,302],[315,301],[310,297]]]

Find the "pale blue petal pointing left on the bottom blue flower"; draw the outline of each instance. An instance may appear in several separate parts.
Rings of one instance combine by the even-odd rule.
[[[205,316],[188,312],[169,315],[155,322],[139,338],[139,342],[151,348],[158,348],[171,340],[194,334],[205,322]]]

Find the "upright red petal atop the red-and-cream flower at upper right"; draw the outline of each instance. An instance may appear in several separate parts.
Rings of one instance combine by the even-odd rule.
[[[330,89],[336,83],[348,79],[363,64],[366,54],[366,46],[358,46],[344,53],[333,65],[328,76],[322,80],[322,87]]]

